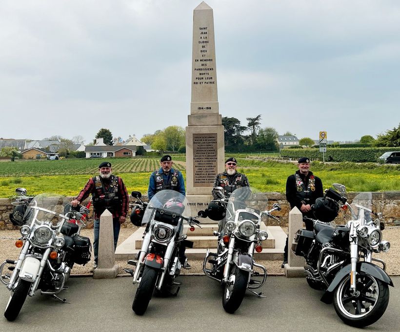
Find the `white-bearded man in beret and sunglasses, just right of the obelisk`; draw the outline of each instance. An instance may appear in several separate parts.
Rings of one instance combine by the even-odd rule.
[[[229,197],[232,192],[240,187],[249,187],[247,176],[237,172],[238,162],[231,157],[225,161],[225,172],[217,175],[214,187],[222,187],[225,197]],[[221,233],[225,227],[225,219],[218,222],[218,230]]]

